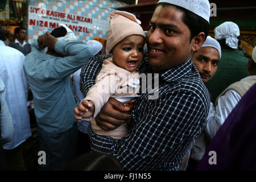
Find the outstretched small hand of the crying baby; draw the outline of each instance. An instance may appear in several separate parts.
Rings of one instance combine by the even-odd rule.
[[[76,119],[84,119],[86,121],[90,121],[92,120],[92,116],[95,110],[94,103],[92,101],[83,100],[77,107],[77,110],[78,111],[74,110]]]

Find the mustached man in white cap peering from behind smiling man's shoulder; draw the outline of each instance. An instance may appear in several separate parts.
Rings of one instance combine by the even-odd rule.
[[[217,71],[218,63],[221,58],[221,46],[217,42],[217,40],[207,36],[203,46],[199,49],[199,51],[193,54],[192,60],[195,64],[199,74],[203,80],[203,82],[207,82],[212,78]],[[207,117],[208,121],[212,121],[216,114],[213,103],[210,102],[210,111]],[[210,131],[213,128],[213,132],[216,131],[216,128],[220,127],[216,126],[205,126]],[[208,130],[207,130],[208,131]],[[197,165],[197,163],[203,158],[205,148],[206,148],[207,140],[205,140],[205,131],[200,134],[198,138],[193,140],[191,143],[191,148],[186,152],[181,164],[180,171],[184,171],[188,166],[189,156],[192,160],[190,160],[192,165]]]

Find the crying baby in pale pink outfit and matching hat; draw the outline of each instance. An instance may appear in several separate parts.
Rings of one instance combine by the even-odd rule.
[[[127,106],[133,106],[134,98],[139,92],[139,71],[142,62],[145,34],[141,22],[126,11],[113,11],[106,35],[107,49],[110,57],[103,61],[96,84],[90,88],[80,103],[86,108],[82,119],[91,120],[100,112],[101,107],[113,97]],[[98,135],[108,135],[121,139],[127,134],[127,124],[111,131],[102,130],[96,121],[91,121],[93,131]]]

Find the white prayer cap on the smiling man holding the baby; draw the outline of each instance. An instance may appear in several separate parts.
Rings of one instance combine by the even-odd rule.
[[[159,0],[160,2],[170,3],[172,5],[183,7],[193,13],[201,16],[209,23],[210,3],[208,0]]]

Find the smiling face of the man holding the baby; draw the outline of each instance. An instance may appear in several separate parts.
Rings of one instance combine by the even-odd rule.
[[[190,36],[183,12],[174,6],[156,7],[146,36],[148,63],[153,71],[162,73],[185,63],[192,56]]]

